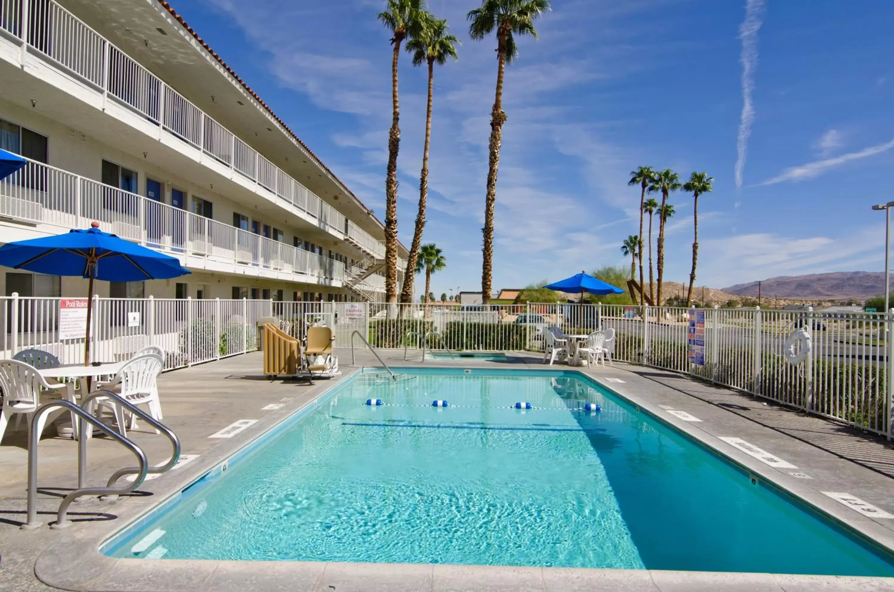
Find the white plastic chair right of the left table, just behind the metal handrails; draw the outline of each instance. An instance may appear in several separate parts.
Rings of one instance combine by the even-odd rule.
[[[147,405],[149,415],[153,419],[162,419],[162,406],[158,400],[158,387],[156,378],[161,374],[164,362],[154,353],[145,353],[128,360],[111,382],[97,385],[99,389],[116,392],[125,401],[132,405]],[[94,400],[100,407],[106,407],[114,413],[115,422],[118,424],[118,432],[127,436],[126,410],[107,397],[97,397]],[[131,415],[131,429],[137,427],[136,417]],[[158,430],[156,429],[156,434]]]

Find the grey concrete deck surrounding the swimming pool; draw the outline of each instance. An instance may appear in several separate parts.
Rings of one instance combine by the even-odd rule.
[[[402,351],[383,351],[392,366],[452,368],[552,368],[539,359],[513,357],[498,362],[483,359],[403,360]],[[343,376],[356,368],[376,366],[373,356],[358,351],[357,367],[350,351],[339,351]],[[339,562],[218,562],[136,560],[105,557],[98,545],[162,500],[179,492],[233,452],[308,402],[340,379],[315,385],[269,381],[260,375],[261,354],[248,354],[165,373],[159,378],[164,423],[180,436],[182,453],[198,455],[189,463],[148,480],[139,495],[118,501],[88,499],[72,504],[76,520],[68,529],[52,530],[60,492],[77,481],[76,444],[52,437],[47,428],[40,442],[38,484],[40,529],[19,526],[25,512],[24,432],[10,433],[0,446],[0,589],[2,590],[891,590],[894,579],[788,576],[759,573],[686,571],[614,571],[561,568],[514,568],[451,565],[400,565]],[[661,418],[688,436],[721,452],[752,477],[775,483],[813,503],[820,512],[851,529],[894,548],[894,519],[879,519],[835,501],[822,492],[852,495],[894,514],[894,447],[873,436],[855,437],[837,424],[805,418],[791,410],[728,389],[714,388],[651,368],[617,363],[608,368],[575,368],[620,393],[642,410]],[[622,382],[617,382],[622,381]],[[737,399],[738,397],[738,399]],[[278,409],[270,406],[283,405]],[[755,407],[756,405],[756,407]],[[264,409],[268,408],[268,409]],[[674,411],[676,413],[671,413]],[[681,419],[686,414],[700,421]],[[257,423],[232,438],[209,438],[239,419]],[[814,423],[818,422],[818,423]],[[789,423],[797,433],[786,433]],[[129,432],[144,447],[149,462],[168,458],[163,436]],[[815,435],[815,437],[814,437]],[[739,438],[770,452],[797,469],[780,469],[759,461],[721,437]],[[810,441],[814,439],[814,444]],[[741,446],[741,444],[740,444]],[[822,446],[822,447],[820,447]],[[746,449],[749,449],[746,446]],[[754,453],[753,449],[751,449]],[[848,452],[849,451],[849,452]],[[843,458],[869,460],[857,464]],[[874,464],[873,464],[874,463]],[[89,484],[104,484],[115,469],[132,464],[132,456],[106,438],[89,445]],[[872,468],[871,468],[872,467]],[[792,475],[797,473],[797,475]],[[889,474],[885,474],[889,473]]]

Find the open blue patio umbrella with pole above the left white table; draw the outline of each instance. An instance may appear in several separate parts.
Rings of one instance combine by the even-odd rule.
[[[99,230],[94,222],[86,230],[16,241],[0,247],[4,266],[38,274],[80,275],[89,278],[87,335],[84,366],[90,360],[90,319],[93,313],[93,281],[142,282],[166,280],[190,273],[177,258],[142,247]]]

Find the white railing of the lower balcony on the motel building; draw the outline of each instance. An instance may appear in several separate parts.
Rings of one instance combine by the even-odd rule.
[[[242,273],[288,273],[296,282],[345,279],[344,264],[334,259],[30,159],[0,180],[0,218],[60,231],[96,220],[106,232],[185,258],[187,266],[198,266],[200,258],[232,264]]]

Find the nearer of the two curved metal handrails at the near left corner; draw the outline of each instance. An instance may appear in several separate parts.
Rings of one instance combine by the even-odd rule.
[[[72,491],[72,493],[66,495],[62,503],[59,504],[59,512],[56,515],[55,524],[53,524],[50,528],[64,529],[71,524],[71,522],[67,520],[68,506],[70,506],[72,502],[81,495],[129,494],[131,493],[131,491],[139,487],[143,483],[143,479],[146,478],[146,471],[148,469],[146,453],[143,452],[137,444],[134,444],[133,442],[131,442],[131,440],[128,440],[126,437],[114,431],[114,429],[112,429],[111,427],[106,426],[102,421],[93,417],[87,411],[82,410],[75,403],[72,403],[70,401],[54,401],[44,403],[43,405],[38,407],[38,410],[35,411],[34,415],[31,417],[31,428],[28,437],[28,521],[25,522],[25,524],[21,525],[21,529],[24,530],[37,529],[41,525],[41,522],[38,521],[38,440],[40,439],[40,434],[38,433],[37,426],[40,417],[48,411],[55,409],[56,407],[62,407],[63,409],[70,410],[75,415],[80,416],[81,429],[83,429],[83,427],[85,427],[85,424],[89,422],[105,432],[106,436],[113,438],[116,442],[118,442],[118,444],[122,444],[124,447],[130,449],[130,451],[133,452],[134,456],[137,457],[137,461],[139,462],[139,474],[137,475],[137,478],[133,480],[133,483],[123,487],[79,487],[75,489],[74,491]],[[86,442],[87,437],[84,436],[83,431],[81,431],[78,436],[80,437],[81,442]],[[79,469],[80,467],[87,466],[87,460],[85,458],[86,450],[86,444],[79,444]]]

